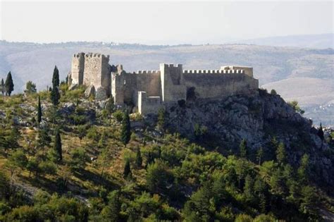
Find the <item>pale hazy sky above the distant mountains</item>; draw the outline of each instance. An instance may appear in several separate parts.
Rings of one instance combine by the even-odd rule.
[[[333,1],[1,1],[0,13],[1,39],[18,42],[205,44],[333,32]]]

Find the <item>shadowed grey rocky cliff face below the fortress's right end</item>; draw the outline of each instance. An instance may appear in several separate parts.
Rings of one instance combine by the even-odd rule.
[[[236,152],[242,139],[249,149],[264,148],[265,159],[275,158],[271,140],[284,142],[287,159],[299,166],[303,154],[310,156],[312,178],[322,185],[334,185],[333,149],[323,142],[312,127],[279,96],[260,90],[259,96],[233,96],[216,100],[180,102],[166,108],[166,127],[195,139],[198,129],[204,141],[221,152]],[[255,155],[251,159],[255,160]]]

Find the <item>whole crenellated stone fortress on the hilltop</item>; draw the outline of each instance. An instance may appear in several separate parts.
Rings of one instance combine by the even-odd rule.
[[[74,54],[68,77],[71,85],[87,85],[89,92],[102,97],[112,95],[115,104],[132,105],[142,114],[182,100],[257,94],[259,88],[252,67],[183,70],[181,64],[161,63],[159,70],[127,73],[122,65],[109,65],[109,56],[92,53]]]

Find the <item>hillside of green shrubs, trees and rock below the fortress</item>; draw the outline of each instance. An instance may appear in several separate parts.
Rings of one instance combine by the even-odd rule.
[[[140,116],[55,73],[0,98],[0,221],[333,220],[334,133],[297,104],[259,90]]]

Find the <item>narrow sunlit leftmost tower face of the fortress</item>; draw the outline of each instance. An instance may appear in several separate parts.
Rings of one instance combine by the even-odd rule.
[[[70,77],[71,83],[82,85],[83,83],[83,75],[85,69],[85,53],[81,52],[78,54],[74,54],[72,57]]]

